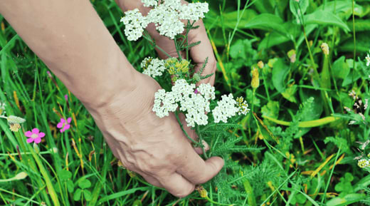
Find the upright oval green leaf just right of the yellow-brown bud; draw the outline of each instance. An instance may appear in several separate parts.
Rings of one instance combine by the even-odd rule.
[[[279,58],[273,66],[273,85],[280,93],[285,89],[285,78],[288,73],[289,66],[287,66],[284,59]]]

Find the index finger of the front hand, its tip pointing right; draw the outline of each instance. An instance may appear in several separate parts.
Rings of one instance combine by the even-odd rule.
[[[223,167],[223,159],[219,157],[212,157],[204,161],[191,148],[188,148],[186,155],[187,158],[184,158],[176,172],[196,185],[211,180]]]

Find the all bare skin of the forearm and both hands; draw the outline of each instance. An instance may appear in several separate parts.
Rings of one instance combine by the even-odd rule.
[[[126,2],[127,3],[127,2]],[[121,8],[139,5],[118,2]],[[122,7],[126,6],[126,7]],[[2,0],[0,14],[41,60],[85,105],[112,153],[147,182],[177,197],[210,180],[223,167],[218,157],[203,160],[186,138],[174,114],[158,118],[152,112],[159,84],[135,71],[88,0]],[[191,41],[205,41],[191,50],[196,63],[216,61],[201,21]],[[150,27],[150,26],[149,26]],[[173,52],[168,39],[149,33],[159,46]],[[163,54],[159,53],[159,56]],[[205,82],[213,83],[214,78]],[[193,138],[193,130],[186,128]]]

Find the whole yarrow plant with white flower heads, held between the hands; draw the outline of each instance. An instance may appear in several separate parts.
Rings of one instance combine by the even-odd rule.
[[[182,5],[179,0],[164,0],[161,4],[156,0],[142,0],[142,3],[152,8],[147,16],[142,16],[135,9],[125,12],[125,16],[121,19],[125,24],[127,39],[136,41],[142,37],[146,26],[154,23],[159,34],[174,40],[177,53],[186,52],[186,58],[182,58],[181,55],[179,58],[172,57],[166,60],[147,57],[142,61],[140,65],[143,69],[142,73],[155,78],[162,86],[162,89],[159,89],[154,96],[152,108],[154,113],[159,118],[174,113],[186,137],[194,143],[194,146],[203,148],[204,158],[208,158],[208,154],[204,150],[203,137],[209,138],[208,133],[215,133],[216,130],[220,132],[217,143],[213,143],[215,144],[213,148],[217,148],[218,151],[210,150],[208,153],[228,155],[228,152],[232,153],[235,150],[248,150],[248,148],[237,146],[236,143],[240,141],[240,138],[228,133],[228,128],[238,127],[237,121],[249,112],[248,103],[243,97],[234,99],[231,93],[221,96],[220,100],[216,99],[216,89],[209,83],[201,83],[203,79],[213,75],[202,75],[208,59],[205,59],[203,66],[195,72],[194,64],[188,58],[189,48],[201,42],[188,45],[187,34],[191,29],[197,29],[194,23],[208,12],[208,4],[198,2]],[[187,20],[187,23],[184,24],[181,20]],[[147,39],[150,41],[151,38]],[[151,43],[155,42],[151,41]],[[180,115],[184,115],[186,125],[196,131],[199,136],[198,142],[186,133]],[[213,139],[206,140],[214,141]],[[228,157],[225,159],[229,161]],[[215,182],[216,186],[219,183],[219,181]]]

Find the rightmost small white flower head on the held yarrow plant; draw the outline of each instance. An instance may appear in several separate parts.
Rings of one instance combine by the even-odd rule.
[[[235,116],[239,112],[239,108],[236,105],[237,102],[234,100],[233,94],[221,96],[221,101],[218,101],[216,108],[212,110],[215,123],[220,121],[227,123],[228,118]]]

